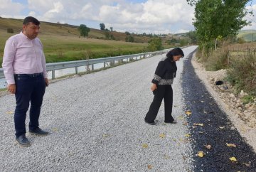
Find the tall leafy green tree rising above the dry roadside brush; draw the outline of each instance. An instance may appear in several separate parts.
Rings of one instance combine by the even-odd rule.
[[[252,0],[187,0],[196,5],[195,21],[196,37],[199,48],[206,48],[206,53],[215,45],[218,36],[226,38],[236,35],[250,22],[245,20],[247,10],[245,4]]]

